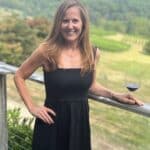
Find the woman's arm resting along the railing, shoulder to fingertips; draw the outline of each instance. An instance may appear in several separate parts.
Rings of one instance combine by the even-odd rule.
[[[95,95],[108,97],[108,98],[115,99],[115,100],[123,102],[123,103],[143,105],[143,103],[141,101],[134,98],[131,94],[114,92],[108,88],[105,88],[104,86],[102,86],[100,83],[98,83],[96,81],[96,64],[99,60],[99,57],[100,57],[100,51],[99,51],[99,49],[97,49],[96,59],[95,59],[94,78],[93,78],[93,82],[92,82],[92,85],[91,85],[89,91]]]

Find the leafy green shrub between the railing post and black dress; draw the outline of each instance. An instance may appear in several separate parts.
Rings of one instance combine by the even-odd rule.
[[[20,108],[8,110],[8,147],[10,150],[30,150],[33,118],[21,118]]]

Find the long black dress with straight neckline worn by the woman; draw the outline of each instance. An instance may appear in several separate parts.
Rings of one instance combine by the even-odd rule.
[[[91,150],[88,90],[93,73],[80,68],[44,71],[45,106],[53,109],[54,124],[36,119],[32,150]]]

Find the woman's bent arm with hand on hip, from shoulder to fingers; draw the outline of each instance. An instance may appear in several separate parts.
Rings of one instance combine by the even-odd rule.
[[[32,97],[27,89],[25,80],[40,66],[42,66],[45,61],[44,50],[45,44],[41,44],[29,58],[27,58],[23,64],[19,67],[17,72],[14,75],[14,82],[18,89],[18,92],[25,103],[29,112],[35,117],[41,118],[44,122],[53,123],[52,118],[48,115],[48,112],[55,115],[55,113],[47,107],[36,106]]]

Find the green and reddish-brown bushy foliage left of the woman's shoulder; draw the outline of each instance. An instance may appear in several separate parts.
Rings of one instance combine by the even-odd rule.
[[[49,22],[44,18],[21,19],[11,15],[0,21],[0,60],[20,65],[48,34]]]

